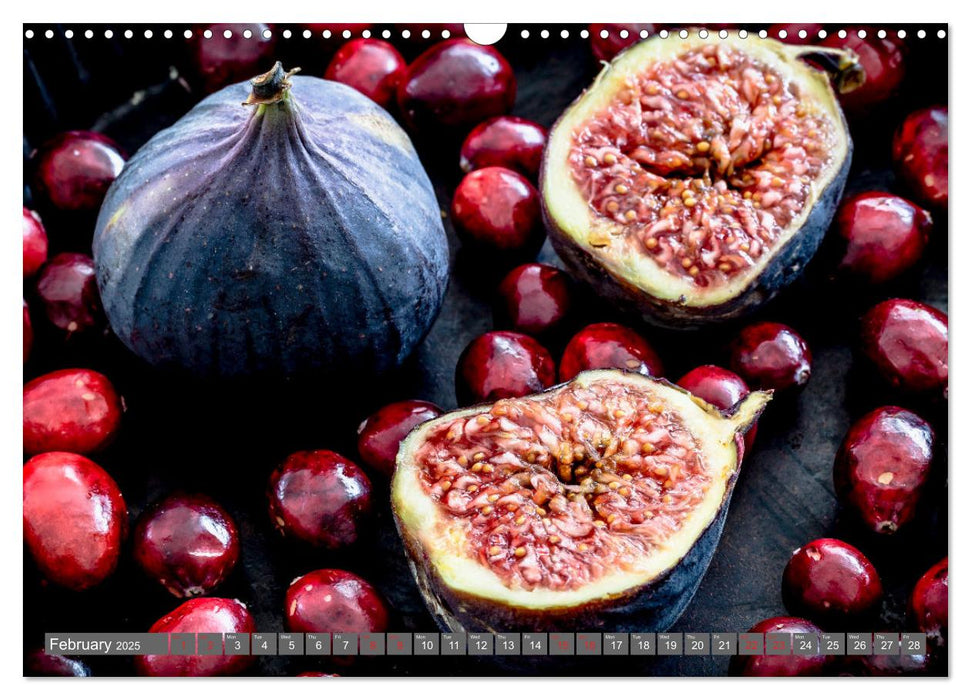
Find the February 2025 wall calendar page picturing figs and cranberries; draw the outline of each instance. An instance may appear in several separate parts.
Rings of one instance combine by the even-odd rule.
[[[949,674],[947,25],[22,40],[25,676]]]

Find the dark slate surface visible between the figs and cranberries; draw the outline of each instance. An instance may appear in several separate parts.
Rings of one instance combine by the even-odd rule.
[[[909,111],[947,103],[947,40],[937,38],[940,26],[921,26],[928,34],[924,39],[916,37],[916,27],[907,27],[908,78],[900,96],[852,124],[856,153],[848,192],[876,188],[907,196],[890,170],[893,130]],[[145,39],[145,27],[136,26],[135,37],[126,39],[122,33],[128,27],[116,26],[114,38],[108,40],[103,36],[105,25],[71,25],[75,38],[68,40],[63,37],[66,26],[25,26],[34,30],[34,38],[24,41],[25,183],[31,150],[58,131],[103,131],[130,154],[201,99],[204,95],[180,80],[173,67],[182,60],[186,27],[159,25],[153,27],[155,36]],[[895,31],[897,25],[879,27]],[[48,28],[55,31],[52,39],[43,36]],[[95,31],[93,39],[83,38],[89,28]],[[165,28],[173,30],[173,38],[163,37]],[[284,28],[274,26],[278,35]],[[294,35],[277,40],[276,56],[287,67],[300,65],[304,74],[322,75],[344,39],[325,40],[319,31],[305,39],[302,27],[290,28]],[[497,44],[516,70],[519,89],[513,113],[551,126],[590,83],[597,66],[588,40],[579,37],[581,25],[528,26],[528,40],[520,37],[523,28],[510,25]],[[543,28],[550,38],[540,38]],[[569,39],[560,38],[564,28],[570,30]],[[829,31],[839,28],[827,26]],[[392,41],[409,60],[431,43],[416,38]],[[427,140],[416,145],[447,211],[461,177],[457,145]],[[26,184],[24,195],[25,205],[40,207],[32,203]],[[42,207],[40,211],[52,253],[89,248],[92,222],[62,221]],[[947,311],[947,215],[934,216],[924,260],[890,286],[858,289],[835,280],[833,261],[824,247],[806,275],[756,316],[787,323],[806,338],[814,355],[813,377],[798,396],[774,401],[760,421],[721,545],[674,631],[741,632],[763,618],[785,614],[779,591],[782,569],[792,550],[823,536],[840,537],[861,548],[880,571],[887,593],[872,629],[908,629],[906,600],[913,584],[947,554],[947,406],[889,393],[858,360],[855,347],[859,316],[882,299],[910,297]],[[387,487],[379,478],[374,480],[380,504],[375,531],[355,551],[345,553],[284,542],[270,526],[265,488],[273,466],[297,449],[330,448],[356,458],[357,424],[387,401],[423,398],[446,409],[456,406],[456,360],[473,337],[493,328],[493,294],[504,270],[465,258],[448,221],[446,229],[455,264],[441,316],[415,356],[392,377],[361,377],[341,386],[199,385],[149,371],[112,337],[65,345],[35,313],[37,340],[24,379],[56,368],[89,366],[116,383],[129,410],[118,442],[96,459],[118,481],[132,522],[148,504],[175,489],[204,492],[221,502],[236,518],[243,548],[236,571],[214,594],[244,601],[259,630],[282,631],[283,597],[290,581],[316,568],[339,567],[365,577],[385,595],[392,610],[391,631],[433,631],[407,571],[387,507]],[[548,245],[541,259],[555,264]],[[30,290],[25,294],[29,300]],[[699,364],[726,365],[726,346],[737,330],[657,330],[636,320],[617,319],[611,309],[598,307],[592,299],[585,301],[571,330],[599,320],[623,320],[641,330],[664,359],[672,380]],[[554,357],[558,358],[562,340],[550,344]],[[833,494],[832,464],[850,424],[887,403],[911,408],[930,420],[938,449],[917,522],[893,537],[878,538],[841,514]],[[25,570],[28,648],[42,645],[44,632],[146,631],[178,604],[144,578],[127,554],[116,574],[84,594],[43,584],[26,553]],[[95,675],[133,672],[131,660],[123,657],[86,661]],[[499,659],[449,659],[443,664],[440,659],[383,657],[344,666],[313,657],[261,657],[251,673],[295,675],[324,669],[342,675],[723,675],[728,659],[548,657],[525,667],[503,664],[507,665],[500,665]]]

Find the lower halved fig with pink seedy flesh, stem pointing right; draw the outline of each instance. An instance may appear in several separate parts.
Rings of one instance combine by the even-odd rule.
[[[770,397],[723,414],[593,370],[422,424],[391,499],[430,612],[451,631],[669,628],[721,534],[735,436]]]

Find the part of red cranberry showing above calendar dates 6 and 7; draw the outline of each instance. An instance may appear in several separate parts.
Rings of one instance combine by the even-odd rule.
[[[340,569],[319,569],[287,589],[286,627],[291,632],[384,632],[388,610],[364,579]]]

